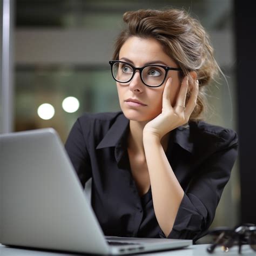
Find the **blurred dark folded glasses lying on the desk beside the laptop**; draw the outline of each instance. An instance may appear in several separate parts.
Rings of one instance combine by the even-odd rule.
[[[214,228],[209,232],[213,235],[214,242],[207,248],[208,253],[213,253],[215,247],[222,246],[224,251],[230,247],[238,245],[241,253],[242,245],[250,245],[256,251],[256,226],[254,224],[242,224],[231,228]]]

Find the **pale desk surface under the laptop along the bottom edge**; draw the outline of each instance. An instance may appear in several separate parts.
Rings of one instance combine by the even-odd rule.
[[[165,251],[165,252],[153,252],[153,253],[145,253],[142,254],[144,256],[149,255],[168,255],[168,256],[207,256],[207,255],[225,255],[225,256],[231,256],[231,255],[239,255],[238,254],[238,248],[237,246],[230,249],[229,252],[223,252],[220,250],[220,247],[216,248],[213,254],[208,254],[206,252],[207,245],[191,245],[189,247],[186,247],[182,250],[171,250],[171,251]],[[54,253],[54,252],[45,252],[45,251],[34,251],[34,250],[24,250],[24,249],[18,249],[18,248],[11,248],[11,247],[5,247],[0,245],[0,255],[1,256],[77,256],[81,254],[70,254],[70,253]],[[89,255],[89,254],[86,254]],[[91,254],[90,254],[91,255]],[[139,255],[139,254],[136,254]],[[253,255],[255,256],[256,253],[253,251],[250,246],[244,245],[242,246],[242,255]]]

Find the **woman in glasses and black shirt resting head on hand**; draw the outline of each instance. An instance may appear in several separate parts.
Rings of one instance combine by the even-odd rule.
[[[201,121],[219,66],[183,10],[124,14],[110,61],[122,112],[78,118],[66,150],[105,235],[198,239],[237,156],[232,130]]]

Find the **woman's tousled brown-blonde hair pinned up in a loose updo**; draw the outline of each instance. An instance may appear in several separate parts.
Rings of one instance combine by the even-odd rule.
[[[138,10],[123,15],[126,28],[120,33],[114,46],[113,59],[119,59],[119,51],[125,41],[132,37],[154,38],[183,70],[181,77],[190,71],[197,72],[199,94],[197,105],[190,120],[201,119],[206,109],[207,85],[219,73],[209,36],[200,22],[185,10]],[[190,77],[190,83],[192,78]],[[189,92],[187,99],[190,97]]]

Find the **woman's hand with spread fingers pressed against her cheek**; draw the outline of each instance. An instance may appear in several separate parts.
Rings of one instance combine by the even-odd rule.
[[[188,99],[186,104],[188,77],[186,76],[183,79],[176,104],[174,106],[172,106],[170,98],[171,84],[172,78],[169,78],[165,84],[163,92],[162,112],[145,125],[143,137],[153,135],[161,139],[166,133],[188,122],[188,119],[190,118],[194,107],[197,104],[198,80],[196,80],[196,82],[194,82],[194,84],[191,86],[190,99]]]

